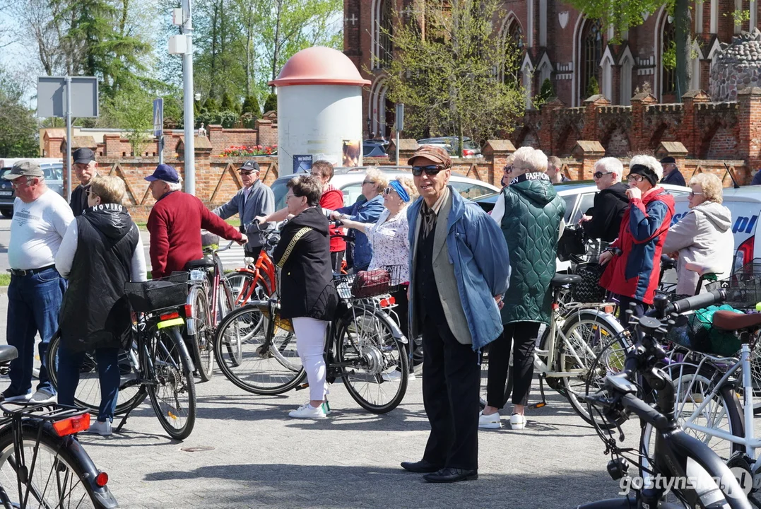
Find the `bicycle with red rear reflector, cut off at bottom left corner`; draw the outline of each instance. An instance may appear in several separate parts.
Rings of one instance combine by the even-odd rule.
[[[17,357],[13,346],[0,346],[0,373],[8,374]],[[107,487],[107,472],[97,469],[76,440],[78,432],[90,427],[87,410],[56,403],[0,402],[0,411],[0,504],[4,509],[117,507]]]

